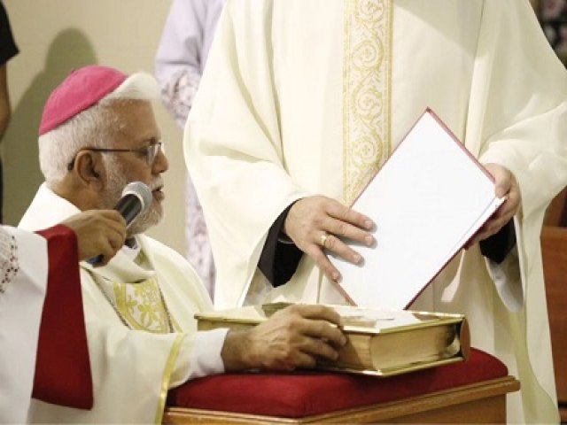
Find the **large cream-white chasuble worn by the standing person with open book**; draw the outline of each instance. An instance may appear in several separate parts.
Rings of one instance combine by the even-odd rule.
[[[498,285],[472,247],[416,305],[466,313],[472,344],[518,376],[509,421],[557,421],[539,236],[567,183],[566,98],[527,0],[229,0],[184,139],[215,304],[344,302],[305,255],[272,289],[257,269],[268,229],[300,197],[352,203],[430,107],[517,178],[519,269]]]

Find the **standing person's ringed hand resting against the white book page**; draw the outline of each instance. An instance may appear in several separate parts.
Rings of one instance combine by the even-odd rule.
[[[339,257],[359,264],[361,255],[344,243],[341,238],[372,246],[376,243],[369,230],[375,224],[366,215],[340,204],[330,197],[314,196],[299,199],[291,206],[283,229],[293,243],[315,259],[323,273],[338,281],[340,274],[324,253],[332,251]]]

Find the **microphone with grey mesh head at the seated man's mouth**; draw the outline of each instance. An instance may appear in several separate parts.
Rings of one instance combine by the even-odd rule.
[[[143,182],[131,182],[122,190],[122,196],[114,206],[114,210],[120,213],[126,220],[126,227],[129,228],[140,214],[148,211],[152,200],[151,189],[146,184]],[[121,246],[118,248],[119,250]],[[104,259],[105,255],[100,254],[87,261],[93,266],[102,266],[108,262],[108,259],[105,262]]]

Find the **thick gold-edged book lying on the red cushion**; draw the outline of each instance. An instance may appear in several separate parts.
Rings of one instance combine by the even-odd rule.
[[[198,330],[255,326],[287,303],[197,313]],[[386,311],[330,305],[341,316],[347,343],[335,361],[317,367],[343,372],[390,376],[467,359],[470,335],[462,314]]]

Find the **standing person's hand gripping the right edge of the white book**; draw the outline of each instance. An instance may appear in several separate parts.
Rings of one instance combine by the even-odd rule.
[[[522,202],[522,195],[514,174],[498,164],[486,164],[485,168],[494,177],[496,196],[506,197],[506,200],[478,230],[470,243],[467,243],[467,247],[498,233],[517,214]]]

